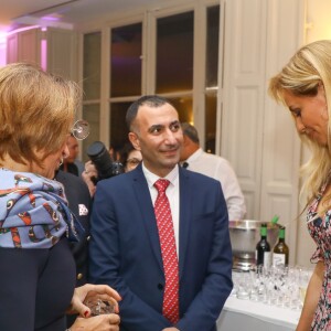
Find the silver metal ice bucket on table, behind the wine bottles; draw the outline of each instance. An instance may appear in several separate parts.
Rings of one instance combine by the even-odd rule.
[[[229,221],[234,269],[249,270],[255,265],[255,248],[260,239],[260,225],[267,223],[267,241],[273,250],[278,241],[278,225],[265,221]]]

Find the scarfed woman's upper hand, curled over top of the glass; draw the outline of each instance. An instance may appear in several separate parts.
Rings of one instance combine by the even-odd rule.
[[[67,313],[78,313],[81,317],[89,317],[90,309],[84,305],[85,301],[92,298],[98,298],[104,301],[110,301],[115,306],[115,312],[119,312],[118,302],[121,298],[119,293],[107,285],[86,284],[76,287]]]

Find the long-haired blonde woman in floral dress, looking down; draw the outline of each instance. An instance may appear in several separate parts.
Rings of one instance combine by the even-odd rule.
[[[300,49],[270,79],[269,93],[286,105],[302,142],[311,150],[301,168],[307,196],[308,231],[317,244],[316,263],[297,327],[331,330],[331,41],[318,41]]]

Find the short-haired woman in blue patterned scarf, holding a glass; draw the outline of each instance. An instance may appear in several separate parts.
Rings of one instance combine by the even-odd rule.
[[[68,307],[89,317],[85,299],[120,299],[108,286],[74,290],[68,241],[78,239],[81,227],[62,184],[52,179],[68,154],[67,132],[79,98],[75,83],[36,66],[0,68],[1,330],[63,331]],[[115,313],[78,318],[72,331],[116,331],[118,323]]]

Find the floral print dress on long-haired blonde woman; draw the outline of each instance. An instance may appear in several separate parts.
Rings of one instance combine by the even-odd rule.
[[[311,323],[313,331],[331,330],[331,210],[327,211],[322,218],[317,216],[318,204],[325,188],[327,183],[321,188],[319,195],[310,204],[307,213],[308,229],[317,244],[311,261],[322,260],[325,265],[322,291]]]

